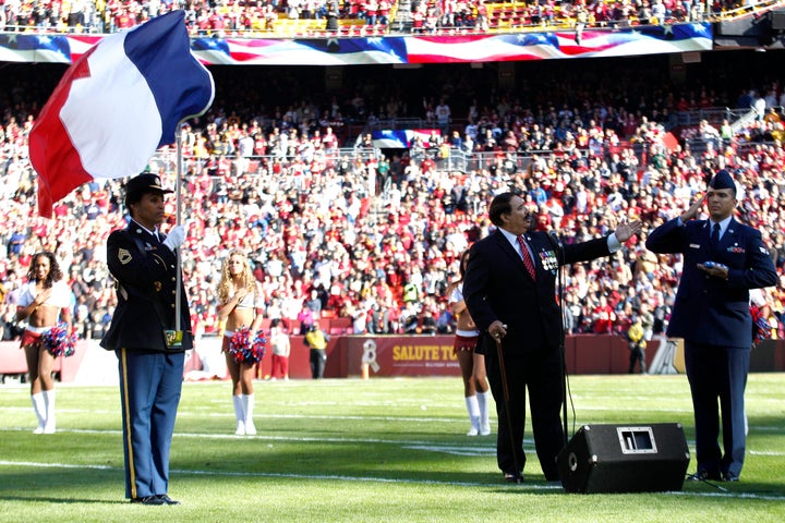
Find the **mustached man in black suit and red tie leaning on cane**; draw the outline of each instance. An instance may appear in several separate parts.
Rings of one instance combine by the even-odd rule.
[[[471,247],[463,297],[481,332],[478,346],[485,353],[496,400],[496,459],[505,479],[520,481],[528,389],[538,458],[545,479],[553,482],[558,479],[556,454],[565,445],[563,326],[555,300],[558,268],[619,250],[640,230],[640,222],[623,223],[607,238],[560,245],[544,232],[530,231],[532,214],[515,193],[494,197],[488,215],[497,229]]]

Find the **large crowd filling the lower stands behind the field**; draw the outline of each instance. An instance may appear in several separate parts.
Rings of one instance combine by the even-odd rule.
[[[763,231],[784,275],[764,296],[781,337],[785,150],[774,138],[782,132],[782,88],[761,89],[770,90],[764,101],[773,110],[733,136],[703,124],[700,149],[666,139],[664,122],[678,110],[678,97],[649,100],[636,110],[632,106],[642,101],[613,105],[584,93],[575,105],[539,98],[545,104],[538,108],[499,92],[454,115],[444,138],[434,133],[428,138],[434,144],[423,145],[426,154],[420,156],[374,149],[366,137],[358,146],[339,138],[334,126],[341,113],[369,117],[357,98],[309,98],[283,110],[249,107],[247,98],[224,93],[183,130],[181,197],[191,222],[183,264],[194,328],[207,335],[220,329],[219,264],[240,248],[253,260],[265,317],[282,318],[290,329],[300,326],[297,318],[306,323],[310,316],[351,318],[355,333],[449,332],[445,291],[458,278],[461,252],[491,228],[486,206],[496,192],[521,191],[538,210],[538,229],[555,229],[571,242],[605,234],[618,219],[640,218],[649,231],[701,194],[712,172],[727,168],[741,185],[740,218]],[[700,94],[687,98],[701,104]],[[457,99],[444,92],[432,95],[426,98],[433,98],[434,110]],[[1,96],[3,337],[14,336],[16,292],[39,251],[57,253],[68,275],[80,335],[99,337],[116,303],[105,257],[109,232],[126,218],[122,181],[85,184],[56,204],[53,219],[38,217],[27,135],[45,98],[23,84]],[[758,98],[742,97],[750,106]],[[365,102],[396,106],[395,98]],[[428,107],[409,107],[399,115],[427,119]],[[456,142],[445,148],[439,142],[446,139]],[[446,160],[438,151],[445,149],[462,149],[475,159],[474,167],[443,169]],[[149,165],[169,186],[174,184],[172,153],[161,151]],[[173,198],[168,207],[173,222]],[[651,333],[664,330],[680,259],[654,255],[644,242],[645,232],[609,262],[567,269],[569,332],[625,332],[635,315],[644,317]]]

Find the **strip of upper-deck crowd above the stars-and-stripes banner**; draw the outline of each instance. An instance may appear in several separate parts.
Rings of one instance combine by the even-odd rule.
[[[1,0],[0,31],[114,33],[173,9],[186,12],[194,35],[243,36],[275,32],[278,20],[328,20],[330,3],[339,19],[389,26],[396,0]],[[716,0],[593,0],[505,2],[414,0],[409,2],[414,33],[437,28],[665,23],[703,20],[744,2]],[[325,25],[324,28],[329,28]]]

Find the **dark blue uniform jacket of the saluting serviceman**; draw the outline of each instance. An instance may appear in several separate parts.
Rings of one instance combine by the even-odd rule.
[[[647,240],[647,248],[655,253],[683,254],[681,280],[667,333],[696,343],[749,349],[749,290],[776,284],[774,262],[760,232],[735,219],[712,248],[710,223],[690,220],[679,224],[676,218],[654,229]],[[709,260],[728,267],[727,281],[697,267]]]

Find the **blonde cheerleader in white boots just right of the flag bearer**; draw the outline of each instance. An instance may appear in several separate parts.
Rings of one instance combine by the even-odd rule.
[[[262,290],[251,270],[247,256],[239,250],[232,250],[221,265],[220,280],[216,290],[218,297],[218,319],[224,324],[224,343],[227,368],[232,381],[232,405],[238,436],[256,434],[253,422],[254,410],[254,364],[238,361],[230,351],[232,338],[244,328],[249,329],[251,343],[262,326],[262,311],[265,306]]]

